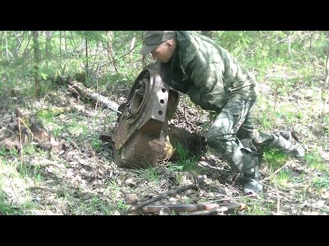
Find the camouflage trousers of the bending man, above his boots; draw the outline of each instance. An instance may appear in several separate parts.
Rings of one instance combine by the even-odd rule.
[[[223,154],[236,172],[250,172],[247,169],[252,168],[252,165],[242,167],[234,162],[234,152],[243,148],[239,139],[251,138],[255,146],[265,146],[273,140],[272,135],[260,133],[254,128],[253,105],[254,101],[230,98],[206,135],[208,146]],[[247,155],[251,155],[251,152],[245,151],[243,154],[249,159]]]

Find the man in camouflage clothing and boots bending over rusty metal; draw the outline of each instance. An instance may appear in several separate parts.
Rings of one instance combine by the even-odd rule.
[[[260,133],[251,109],[258,89],[254,76],[210,38],[188,31],[145,31],[141,55],[160,62],[160,75],[173,89],[188,94],[202,109],[219,113],[208,129],[208,146],[223,154],[234,172],[244,176],[245,193],[263,190],[255,146],[304,156],[290,131]]]

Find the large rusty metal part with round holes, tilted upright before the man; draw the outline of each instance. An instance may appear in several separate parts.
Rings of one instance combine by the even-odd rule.
[[[119,167],[153,166],[163,152],[168,118],[178,105],[178,93],[162,81],[159,66],[138,75],[114,130],[114,161]],[[168,112],[168,113],[167,113]]]

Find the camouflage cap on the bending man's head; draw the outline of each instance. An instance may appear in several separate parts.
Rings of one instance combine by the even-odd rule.
[[[144,31],[144,45],[140,51],[141,55],[147,55],[153,51],[158,44],[171,40],[171,38],[174,38],[175,35],[175,31]]]

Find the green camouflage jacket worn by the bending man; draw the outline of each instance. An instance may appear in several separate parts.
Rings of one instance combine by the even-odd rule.
[[[188,81],[191,100],[206,110],[221,110],[228,98],[256,100],[254,76],[242,68],[226,49],[206,36],[189,31],[176,31],[178,53],[175,69]],[[175,56],[175,54],[174,54]],[[180,77],[182,78],[182,77]]]

